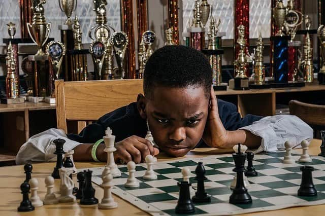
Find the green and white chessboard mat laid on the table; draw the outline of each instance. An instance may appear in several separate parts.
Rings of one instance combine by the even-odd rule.
[[[300,163],[298,162],[300,155],[293,154],[296,163],[284,164],[282,163],[284,154],[285,152],[276,152],[254,156],[253,165],[258,176],[248,177],[250,183],[248,192],[252,197],[250,204],[229,203],[229,197],[232,194],[230,184],[235,176],[233,171],[235,163],[231,154],[156,162],[153,169],[158,178],[155,180],[143,179],[147,165],[137,164],[135,176],[140,182],[139,188],[124,187],[128,172],[126,165],[120,165],[118,168],[122,175],[113,179],[115,186],[112,192],[151,215],[177,215],[175,213],[179,190],[177,182],[182,181],[181,169],[188,167],[191,170],[190,183],[195,190],[194,170],[198,162],[203,162],[208,178],[205,181],[205,189],[211,196],[211,203],[194,203],[195,212],[191,215],[231,215],[325,204],[325,159],[316,156],[312,157],[310,163]],[[317,196],[297,195],[301,184],[300,167],[302,166],[314,167],[312,176],[318,191]],[[93,171],[92,181],[100,186],[104,167],[89,169]]]

